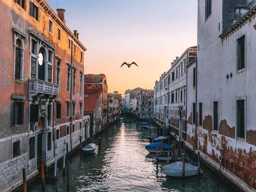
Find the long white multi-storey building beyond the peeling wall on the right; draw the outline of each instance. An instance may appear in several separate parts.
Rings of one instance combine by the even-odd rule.
[[[171,68],[160,76],[154,87],[155,121],[183,138],[186,138],[186,65],[196,57],[196,53],[196,46],[193,46],[185,50],[180,57],[176,57],[171,63]],[[182,127],[183,134],[179,134],[179,127]]]

